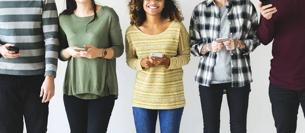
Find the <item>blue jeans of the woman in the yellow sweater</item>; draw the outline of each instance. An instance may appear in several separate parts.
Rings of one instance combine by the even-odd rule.
[[[184,107],[178,109],[144,109],[133,107],[137,133],[155,133],[159,112],[161,133],[178,133]]]

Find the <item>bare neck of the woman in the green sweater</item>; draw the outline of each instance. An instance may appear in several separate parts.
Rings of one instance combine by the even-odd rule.
[[[87,17],[87,16],[92,16],[93,14],[93,9],[92,9],[92,3],[91,1],[88,1],[86,3],[77,3],[77,8],[74,11],[74,14],[76,14],[79,17]]]

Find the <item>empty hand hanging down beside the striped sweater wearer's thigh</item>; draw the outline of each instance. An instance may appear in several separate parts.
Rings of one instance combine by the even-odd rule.
[[[46,76],[44,82],[41,86],[40,97],[42,98],[42,103],[47,103],[54,96],[54,78],[53,76]]]

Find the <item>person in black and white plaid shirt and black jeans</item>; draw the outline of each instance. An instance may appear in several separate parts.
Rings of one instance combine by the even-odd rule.
[[[195,82],[204,132],[219,132],[220,109],[226,91],[231,132],[247,131],[252,80],[250,56],[259,45],[258,16],[250,0],[205,0],[193,11],[191,53],[200,58]],[[217,42],[217,38],[228,40]]]

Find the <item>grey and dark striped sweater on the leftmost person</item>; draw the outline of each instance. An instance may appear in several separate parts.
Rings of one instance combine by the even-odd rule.
[[[56,76],[58,14],[54,0],[0,0],[0,45],[15,44],[20,57],[0,58],[0,73]]]

